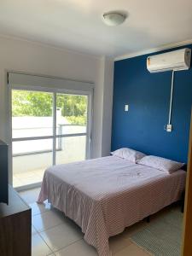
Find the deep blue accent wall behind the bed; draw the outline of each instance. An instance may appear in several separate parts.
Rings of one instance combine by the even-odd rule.
[[[192,49],[192,45],[184,47]],[[114,63],[112,150],[130,147],[187,162],[192,68],[175,73],[173,130],[167,132],[164,125],[168,123],[172,72],[149,73],[147,56]],[[124,111],[125,104],[129,104],[128,112]]]

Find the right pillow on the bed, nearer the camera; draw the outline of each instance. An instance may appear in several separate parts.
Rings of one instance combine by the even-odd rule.
[[[170,174],[172,172],[176,172],[182,166],[184,166],[183,163],[179,163],[173,160],[169,160],[154,155],[147,155],[143,157],[143,159],[137,161],[137,164],[153,167],[155,169],[159,169],[160,171],[167,172]]]

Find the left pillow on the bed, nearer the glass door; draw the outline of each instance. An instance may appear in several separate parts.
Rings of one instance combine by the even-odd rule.
[[[137,163],[137,160],[142,159],[146,154],[143,154],[142,152],[136,151],[131,148],[119,148],[111,154],[116,155],[120,158],[123,158],[125,160],[130,160],[131,162]]]

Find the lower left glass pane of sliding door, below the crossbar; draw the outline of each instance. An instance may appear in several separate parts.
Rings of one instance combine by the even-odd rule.
[[[42,181],[45,169],[52,166],[52,148],[52,139],[13,143],[14,187]]]

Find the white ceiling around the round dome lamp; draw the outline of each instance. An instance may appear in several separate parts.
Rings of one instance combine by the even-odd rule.
[[[121,26],[102,13],[124,10]],[[192,38],[192,0],[1,0],[0,34],[119,56]]]

